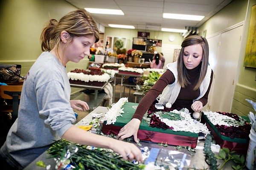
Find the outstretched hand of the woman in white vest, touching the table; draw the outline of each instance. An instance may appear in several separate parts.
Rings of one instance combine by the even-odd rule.
[[[123,140],[125,138],[129,138],[130,136],[134,136],[134,141],[138,142],[137,133],[140,127],[140,120],[137,118],[131,119],[122,129],[119,131],[116,139]]]

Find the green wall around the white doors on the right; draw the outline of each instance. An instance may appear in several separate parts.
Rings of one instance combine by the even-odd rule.
[[[253,107],[245,99],[256,102],[256,69],[243,66],[250,14],[252,6],[256,4],[256,0],[250,0],[249,2],[248,6],[248,0],[233,0],[198,28],[200,35],[203,34],[204,30],[207,30],[207,36],[209,36],[245,20],[244,43],[242,44],[242,58],[241,65],[239,66],[240,72],[238,83],[235,86],[231,108],[231,112],[239,115],[247,115],[249,111],[255,113]]]

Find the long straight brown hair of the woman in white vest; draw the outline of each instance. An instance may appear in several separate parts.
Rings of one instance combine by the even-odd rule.
[[[189,37],[186,37],[182,44],[181,44],[181,50],[180,50],[180,55],[177,60],[177,71],[178,71],[178,82],[180,83],[181,87],[185,87],[189,85],[189,77],[186,71],[186,66],[183,63],[183,54],[184,54],[184,48],[186,46],[191,46],[194,44],[201,44],[202,49],[203,49],[203,56],[202,56],[202,62],[201,62],[201,69],[200,69],[200,74],[198,78],[198,82],[194,87],[194,90],[199,89],[201,83],[204,80],[204,77],[207,72],[207,67],[209,64],[209,45],[206,40],[206,38],[198,36],[198,35],[191,35]]]

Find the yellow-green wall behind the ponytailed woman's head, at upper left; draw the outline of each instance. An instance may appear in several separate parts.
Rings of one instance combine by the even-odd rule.
[[[1,0],[0,63],[21,64],[21,74],[26,75],[42,52],[45,23],[76,9],[64,0]]]

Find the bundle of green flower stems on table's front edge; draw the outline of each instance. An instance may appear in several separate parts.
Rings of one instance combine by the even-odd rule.
[[[70,164],[75,166],[76,170],[141,170],[145,165],[134,164],[125,161],[122,156],[112,150],[97,148],[95,150],[87,149],[87,146],[75,144],[67,140],[55,141],[55,143],[47,150],[51,154],[49,158],[61,158],[68,146],[78,148],[76,153],[71,154],[68,158]]]

